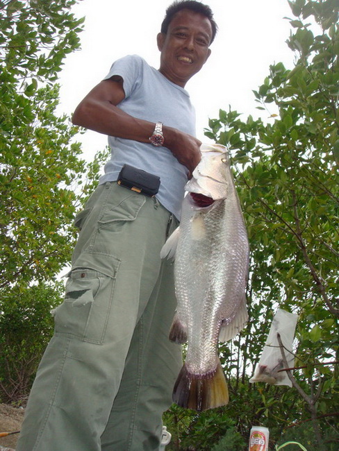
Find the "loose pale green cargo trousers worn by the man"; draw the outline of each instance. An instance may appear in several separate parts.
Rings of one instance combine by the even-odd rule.
[[[181,348],[168,339],[177,226],[155,198],[99,186],[81,228],[55,334],[40,363],[17,451],[158,450]]]

